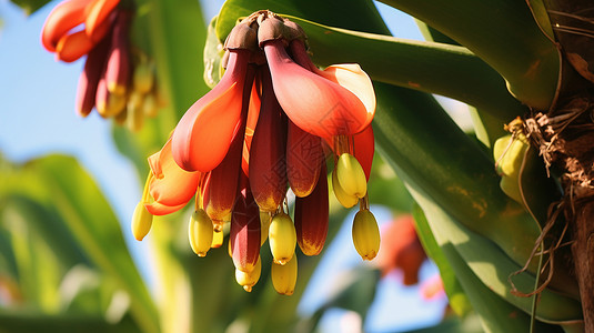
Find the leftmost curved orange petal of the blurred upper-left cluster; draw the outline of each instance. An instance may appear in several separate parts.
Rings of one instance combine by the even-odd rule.
[[[54,52],[58,41],[84,21],[84,10],[90,2],[90,0],[70,0],[56,6],[41,31],[41,43],[46,50]]]

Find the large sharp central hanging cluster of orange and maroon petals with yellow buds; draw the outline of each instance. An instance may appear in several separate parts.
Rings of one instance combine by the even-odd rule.
[[[270,11],[238,23],[224,48],[223,77],[188,110],[169,143],[150,160],[150,191],[141,202],[151,213],[168,214],[195,194],[189,224],[192,250],[203,256],[221,246],[230,221],[228,251],[236,282],[252,290],[268,240],[274,289],[290,295],[298,276],[296,244],[304,255],[318,255],[326,240],[328,153],[340,203],[360,204],[354,245],[364,260],[373,259],[380,234],[368,198],[375,112],[370,78],[353,64],[318,69],[301,28]],[[137,91],[151,85],[147,72],[134,71]],[[118,87],[118,80],[113,82]],[[221,119],[224,125],[212,125]],[[295,195],[294,219],[289,189]]]

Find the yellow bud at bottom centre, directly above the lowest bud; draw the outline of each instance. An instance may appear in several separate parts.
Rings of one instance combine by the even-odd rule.
[[[293,258],[296,233],[295,225],[288,214],[279,213],[272,218],[269,229],[269,243],[275,263],[284,265]]]

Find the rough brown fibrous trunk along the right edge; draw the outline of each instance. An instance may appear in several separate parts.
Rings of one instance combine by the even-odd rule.
[[[594,3],[545,0],[564,59],[557,103],[541,121],[545,161],[562,169],[564,211],[585,332],[594,332]],[[538,118],[538,117],[537,117]],[[551,131],[552,130],[552,131]],[[542,143],[544,143],[543,141]]]

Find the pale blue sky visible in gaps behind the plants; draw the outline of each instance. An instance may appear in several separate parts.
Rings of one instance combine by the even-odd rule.
[[[71,64],[57,62],[53,54],[41,47],[41,27],[57,2],[53,1],[27,18],[8,0],[0,0],[0,17],[3,20],[0,30],[0,152],[17,162],[49,153],[77,157],[108,196],[122,221],[122,230],[134,259],[150,280],[145,256],[141,255],[148,251],[147,242],[135,242],[129,228],[130,216],[140,199],[141,184],[138,183],[135,171],[132,164],[118,153],[111,140],[110,122],[101,119],[97,112],[85,119],[74,112],[74,94],[82,61]],[[203,2],[205,19],[210,21],[218,12],[221,1]],[[396,37],[421,39],[410,17],[382,4],[380,10],[389,18],[387,23]],[[352,248],[350,236],[343,235],[341,239],[348,242],[333,244],[328,249],[329,253],[344,253],[335,249]],[[354,250],[352,252],[354,253]],[[348,253],[351,259],[342,259],[345,260],[343,264],[360,261],[356,253]],[[427,266],[424,268],[423,274],[434,272],[433,268]],[[404,313],[400,316],[386,316],[383,311],[372,311],[372,323],[366,326],[371,331],[396,326],[404,330],[427,324],[426,319],[420,319],[420,309],[430,312],[435,321],[436,314],[443,307],[443,304],[437,306],[411,303],[414,302],[412,300],[416,289],[403,289],[391,282],[382,283],[382,292],[374,309],[381,310],[385,304],[391,304],[392,313],[397,309]],[[394,303],[394,300],[400,300],[400,303]],[[314,303],[315,300],[309,302]],[[415,306],[419,307],[416,311],[406,314],[406,309]],[[396,321],[400,324],[395,324]],[[326,330],[331,331],[329,327]]]

